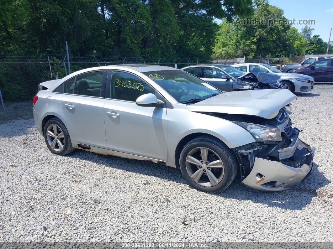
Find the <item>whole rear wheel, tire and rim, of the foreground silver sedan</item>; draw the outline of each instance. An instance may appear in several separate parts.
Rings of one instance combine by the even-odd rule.
[[[51,118],[44,126],[44,138],[49,150],[57,155],[67,155],[75,149],[64,123],[59,118]]]

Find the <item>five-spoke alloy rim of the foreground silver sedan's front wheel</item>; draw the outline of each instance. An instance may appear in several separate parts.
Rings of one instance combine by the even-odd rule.
[[[213,150],[196,147],[186,156],[186,170],[191,179],[204,187],[217,185],[224,176],[221,158]]]

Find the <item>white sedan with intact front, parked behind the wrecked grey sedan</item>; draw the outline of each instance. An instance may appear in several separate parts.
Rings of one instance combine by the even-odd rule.
[[[284,73],[264,63],[241,63],[231,65],[243,72],[269,72],[280,76],[278,81],[291,92],[308,92],[313,89],[314,80],[311,76],[300,73]]]

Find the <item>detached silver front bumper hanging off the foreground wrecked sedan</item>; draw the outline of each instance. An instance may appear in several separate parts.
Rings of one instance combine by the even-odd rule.
[[[277,161],[254,157],[249,165],[252,169],[242,183],[258,190],[280,191],[307,177],[312,171],[315,148],[300,140],[298,134],[288,147],[277,150]]]

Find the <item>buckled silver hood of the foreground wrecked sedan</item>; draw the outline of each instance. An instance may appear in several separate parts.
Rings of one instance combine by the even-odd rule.
[[[287,89],[224,92],[187,108],[194,112],[217,112],[274,118],[279,110],[297,97]]]

